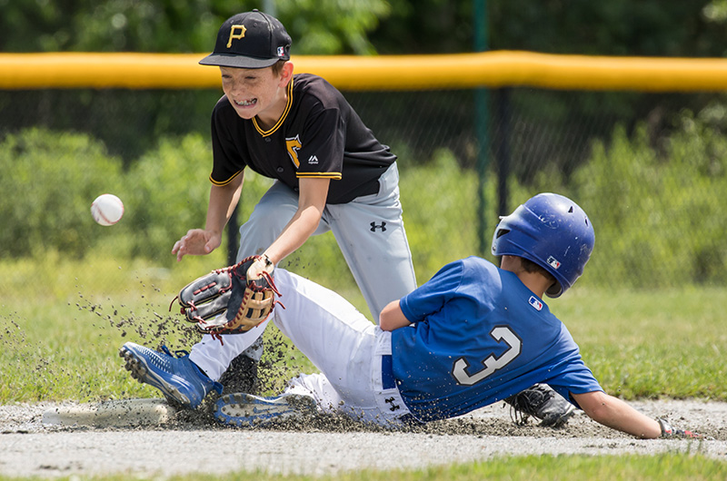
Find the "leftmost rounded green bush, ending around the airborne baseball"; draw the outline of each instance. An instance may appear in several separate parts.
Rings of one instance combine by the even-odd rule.
[[[0,142],[0,258],[58,250],[84,257],[110,233],[91,202],[122,195],[121,162],[85,134],[30,129]]]

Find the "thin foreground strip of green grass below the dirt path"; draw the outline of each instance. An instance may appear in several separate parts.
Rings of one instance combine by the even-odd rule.
[[[31,478],[0,476],[0,481]],[[79,479],[78,476],[58,479]],[[84,477],[105,481],[125,481],[127,475]],[[157,479],[155,476],[134,476],[134,479]],[[451,466],[433,466],[411,471],[373,471],[339,473],[334,476],[282,476],[264,472],[238,472],[225,476],[188,475],[170,476],[168,481],[558,481],[604,480],[662,481],[663,479],[689,479],[691,481],[714,481],[727,479],[727,463],[704,456],[688,454],[666,454],[659,456],[522,456],[500,457],[484,462]]]

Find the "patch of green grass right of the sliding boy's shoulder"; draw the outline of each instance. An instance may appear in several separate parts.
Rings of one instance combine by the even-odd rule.
[[[727,291],[578,290],[550,302],[603,388],[621,398],[727,400]]]

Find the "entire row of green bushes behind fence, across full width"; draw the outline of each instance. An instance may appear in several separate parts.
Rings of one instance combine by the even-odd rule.
[[[543,170],[532,185],[511,180],[511,207],[539,191],[556,191],[589,213],[596,246],[580,284],[657,288],[727,283],[727,139],[702,117],[682,115],[680,128],[654,148],[645,128],[630,138],[617,129],[595,142],[589,162],[566,179]],[[0,142],[0,258],[41,252],[83,258],[113,252],[160,266],[174,262],[174,241],[204,227],[212,155],[199,135],[164,138],[128,172],[104,145],[75,133],[32,129]],[[497,221],[494,176],[485,188],[485,248]],[[271,184],[246,172],[238,219],[245,221]],[[478,182],[452,152],[401,171],[403,215],[420,283],[444,263],[477,253]],[[124,200],[124,219],[95,224],[91,201],[110,191]],[[223,246],[224,248],[224,246]],[[485,254],[486,255],[486,254]],[[486,255],[487,256],[487,255]],[[284,262],[326,285],[352,285],[332,235],[307,241]],[[385,275],[385,273],[382,273]]]

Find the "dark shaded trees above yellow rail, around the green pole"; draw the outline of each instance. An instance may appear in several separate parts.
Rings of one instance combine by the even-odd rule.
[[[483,0],[492,50],[721,56],[725,0]],[[392,0],[371,39],[383,54],[473,49],[473,0]],[[723,21],[723,20],[722,20]]]

